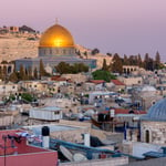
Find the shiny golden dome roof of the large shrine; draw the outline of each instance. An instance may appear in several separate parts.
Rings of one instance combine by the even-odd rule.
[[[40,48],[68,48],[74,46],[74,40],[71,33],[62,25],[54,24],[50,27],[41,37]]]

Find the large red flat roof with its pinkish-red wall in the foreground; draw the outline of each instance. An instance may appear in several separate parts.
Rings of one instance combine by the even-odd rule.
[[[56,152],[27,144],[27,138],[18,135],[20,132],[23,131],[0,131],[0,166],[4,159],[8,166],[54,166],[58,163]]]

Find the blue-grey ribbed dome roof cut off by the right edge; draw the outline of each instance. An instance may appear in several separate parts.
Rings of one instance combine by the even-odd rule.
[[[154,104],[149,110],[148,113],[142,116],[141,120],[146,121],[166,121],[166,98],[158,101]]]

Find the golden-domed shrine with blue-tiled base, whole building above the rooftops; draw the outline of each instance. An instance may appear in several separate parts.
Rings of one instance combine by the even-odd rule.
[[[25,69],[35,68],[39,70],[40,61],[44,66],[50,66],[52,70],[60,62],[70,64],[84,63],[91,69],[96,68],[96,60],[80,59],[75,53],[75,44],[72,34],[62,25],[55,23],[50,27],[41,37],[38,49],[38,58],[20,59],[15,61],[15,70],[19,71],[22,64]]]

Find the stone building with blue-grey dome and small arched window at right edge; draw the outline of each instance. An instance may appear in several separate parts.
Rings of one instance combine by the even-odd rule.
[[[141,121],[141,141],[166,146],[166,98],[153,105]]]

